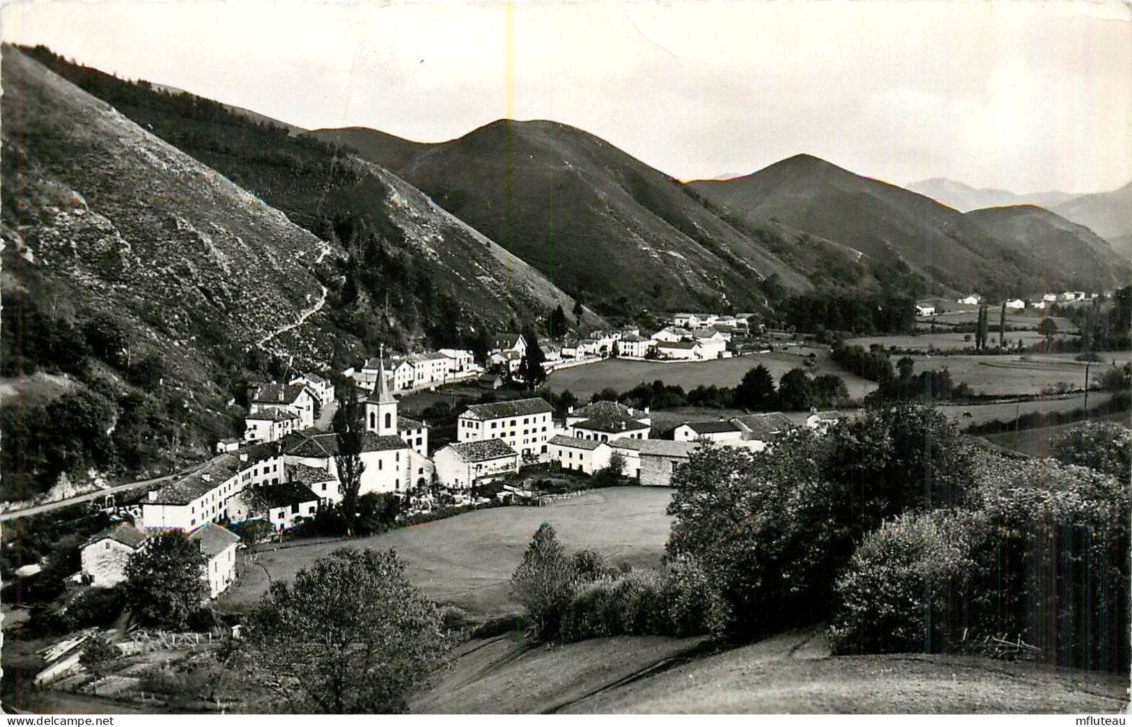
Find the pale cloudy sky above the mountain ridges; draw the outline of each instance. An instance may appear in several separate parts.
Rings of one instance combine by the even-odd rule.
[[[585,129],[680,179],[797,153],[898,185],[1132,181],[1132,5],[17,0],[5,41],[312,129]]]

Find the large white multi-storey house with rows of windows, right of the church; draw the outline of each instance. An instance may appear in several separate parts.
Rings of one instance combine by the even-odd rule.
[[[547,453],[554,408],[539,397],[472,404],[456,420],[457,442],[503,439],[523,457]]]

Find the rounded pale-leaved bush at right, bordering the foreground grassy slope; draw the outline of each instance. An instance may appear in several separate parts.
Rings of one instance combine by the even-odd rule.
[[[970,626],[963,605],[977,537],[970,520],[938,513],[901,515],[869,534],[837,580],[833,651],[931,653],[957,645]]]

